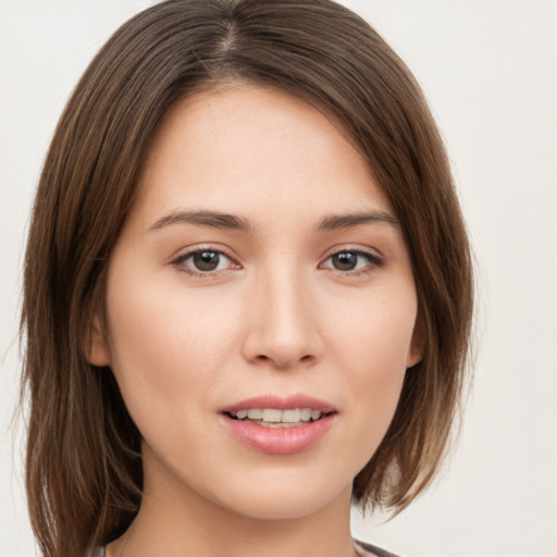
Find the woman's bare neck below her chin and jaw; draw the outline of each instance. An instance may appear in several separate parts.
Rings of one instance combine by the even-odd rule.
[[[108,557],[354,557],[350,492],[294,518],[257,518],[209,500],[184,483],[146,474],[140,510]]]

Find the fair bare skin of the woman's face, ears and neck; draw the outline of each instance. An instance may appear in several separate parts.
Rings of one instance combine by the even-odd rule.
[[[252,230],[169,219],[191,211]],[[317,230],[370,211],[393,222]],[[225,253],[214,271],[196,269],[200,248]],[[335,268],[338,252],[354,270]],[[106,308],[89,359],[111,367],[145,468],[138,517],[110,557],[355,554],[351,482],[420,349],[396,215],[338,124],[242,84],[173,107],[111,256]],[[294,455],[247,447],[219,409],[268,393],[330,403],[331,429]]]

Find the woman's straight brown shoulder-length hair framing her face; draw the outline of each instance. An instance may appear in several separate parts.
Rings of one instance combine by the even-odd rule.
[[[467,369],[472,271],[443,143],[413,77],[363,20],[330,0],[162,2],[124,24],[85,72],[35,199],[22,331],[27,492],[45,556],[83,555],[137,512],[140,435],[112,373],[87,362],[91,319],[162,116],[230,81],[278,87],[337,117],[410,251],[423,359],[354,481],[355,500],[400,510],[445,453]]]

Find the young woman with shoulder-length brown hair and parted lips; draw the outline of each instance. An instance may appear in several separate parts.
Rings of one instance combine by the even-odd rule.
[[[327,0],[171,0],[86,71],[25,263],[45,556],[388,555],[445,453],[472,278],[400,60]]]

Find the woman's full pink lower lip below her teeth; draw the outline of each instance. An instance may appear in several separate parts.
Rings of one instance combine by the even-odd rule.
[[[293,428],[265,428],[221,414],[228,431],[244,445],[272,455],[294,455],[315,444],[333,425],[335,414]]]

